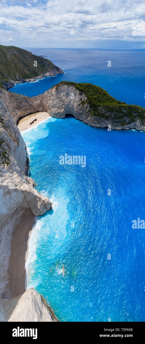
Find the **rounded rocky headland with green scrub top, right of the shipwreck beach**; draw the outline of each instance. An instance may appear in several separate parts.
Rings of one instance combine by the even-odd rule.
[[[145,131],[145,109],[140,106],[119,102],[100,87],[98,87],[99,92],[102,92],[100,103],[103,100],[104,104],[99,104],[95,95],[91,95],[90,101],[89,97],[73,84],[76,85],[75,83],[62,82],[43,93],[43,107],[50,116],[65,118],[66,114],[70,114],[93,127],[105,128],[110,125],[111,129]],[[86,85],[89,85],[89,88],[95,87],[97,92],[97,86]],[[106,96],[109,98],[108,103],[107,101],[105,103]],[[116,104],[114,104],[114,100]],[[97,102],[98,105],[95,107],[94,104]]]

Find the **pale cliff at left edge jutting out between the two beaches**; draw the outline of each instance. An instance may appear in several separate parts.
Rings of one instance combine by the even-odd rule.
[[[51,204],[34,189],[34,181],[26,173],[25,142],[3,101],[0,99],[0,223],[3,227],[17,207],[30,207],[34,215],[44,214]]]

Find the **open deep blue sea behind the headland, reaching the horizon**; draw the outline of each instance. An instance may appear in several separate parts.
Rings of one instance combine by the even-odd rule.
[[[11,92],[37,96],[67,80],[100,86],[117,100],[145,107],[145,50],[25,49],[48,58],[65,74],[16,84]]]

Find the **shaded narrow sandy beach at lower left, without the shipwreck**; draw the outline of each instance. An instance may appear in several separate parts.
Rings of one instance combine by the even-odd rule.
[[[6,299],[11,299],[25,292],[25,262],[28,256],[29,239],[34,224],[34,214],[32,214],[29,208],[24,209],[21,223],[15,227],[13,233],[9,264],[10,280]]]

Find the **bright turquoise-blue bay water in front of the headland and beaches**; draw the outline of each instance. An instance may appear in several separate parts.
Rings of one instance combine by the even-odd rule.
[[[134,212],[141,213],[140,209],[140,218],[144,213],[142,193],[136,201],[137,178],[144,188],[141,158],[144,133],[108,132],[87,126],[71,116],[49,118],[38,128],[37,133],[29,130],[22,135],[29,151],[29,175],[35,180],[37,190],[50,197],[52,210],[37,218],[30,237],[27,288],[34,287],[41,293],[60,321],[107,321],[105,315],[101,315],[102,309],[113,321],[143,319],[144,304],[142,302],[140,313],[137,304],[142,298],[139,293],[144,234],[143,230],[140,236],[137,231],[132,232],[131,217]],[[86,155],[86,167],[60,165],[60,152],[65,153],[66,149],[70,155],[78,155],[78,152]],[[130,217],[127,209],[130,209]],[[111,247],[110,242],[114,243]],[[138,247],[135,253],[134,244]],[[130,259],[140,266],[137,269],[136,264],[135,268],[132,265],[133,274],[129,272]],[[124,280],[128,289],[126,307],[120,317]]]

